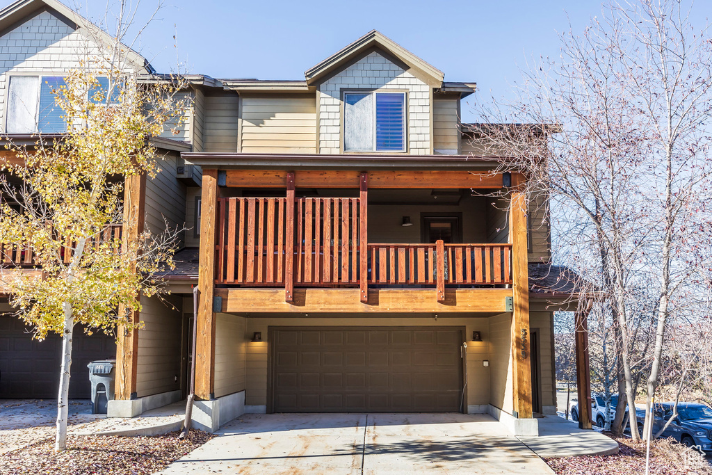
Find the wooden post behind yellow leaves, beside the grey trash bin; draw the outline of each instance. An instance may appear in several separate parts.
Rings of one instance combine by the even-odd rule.
[[[126,177],[124,184],[124,216],[122,230],[122,245],[137,239],[144,230],[146,220],[146,175]],[[135,271],[135,264],[132,265]],[[136,296],[140,298],[140,296]],[[125,306],[119,306],[119,315],[125,313]],[[134,311],[130,315],[132,323],[138,323],[140,313]],[[126,331],[117,328],[116,346],[116,382],[114,397],[117,400],[130,400],[137,397],[137,363],[138,363],[138,330]]]

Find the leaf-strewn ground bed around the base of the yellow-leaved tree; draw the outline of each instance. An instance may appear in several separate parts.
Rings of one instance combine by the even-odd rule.
[[[0,455],[0,474],[152,474],[209,441],[212,436],[191,431],[179,441],[178,432],[155,437],[68,437],[68,450],[54,451],[50,437],[23,449]]]

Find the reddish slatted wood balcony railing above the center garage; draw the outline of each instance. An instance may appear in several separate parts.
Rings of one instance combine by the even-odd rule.
[[[291,212],[286,198],[221,198],[217,213],[218,285],[355,287],[365,276],[375,287],[435,286],[444,299],[445,286],[512,283],[511,244],[362,242],[358,198],[295,199]]]

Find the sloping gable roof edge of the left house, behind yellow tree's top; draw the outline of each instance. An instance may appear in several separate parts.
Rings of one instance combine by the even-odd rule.
[[[92,24],[83,16],[77,14],[65,4],[58,0],[17,0],[13,4],[6,6],[0,10],[0,35],[7,33],[9,30],[16,28],[26,19],[40,14],[42,11],[50,10],[51,13],[57,16],[61,21],[68,24],[72,28],[95,28],[101,38],[107,43],[112,41],[111,36],[103,31],[98,26]],[[124,45],[125,46],[125,45]],[[128,53],[127,56],[131,63],[141,65],[147,73],[155,73],[155,69],[136,51],[125,46]]]

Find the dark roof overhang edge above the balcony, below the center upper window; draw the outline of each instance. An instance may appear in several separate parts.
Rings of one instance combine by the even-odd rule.
[[[470,155],[182,153],[186,165],[204,169],[493,169],[503,157]]]

